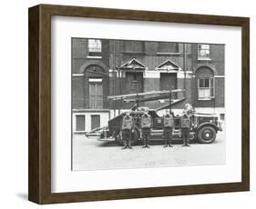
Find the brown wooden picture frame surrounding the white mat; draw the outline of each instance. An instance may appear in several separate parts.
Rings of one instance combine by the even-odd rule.
[[[51,16],[107,18],[200,25],[240,26],[242,33],[241,183],[51,193]],[[36,5],[29,8],[29,170],[28,199],[56,204],[181,194],[210,194],[250,189],[250,19],[107,8]]]

